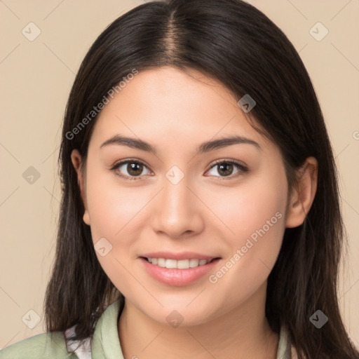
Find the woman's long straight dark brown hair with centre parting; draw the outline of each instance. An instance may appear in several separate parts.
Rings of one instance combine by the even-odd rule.
[[[338,306],[337,276],[345,237],[337,169],[323,114],[292,43],[266,15],[240,0],[149,2],[112,22],[88,50],[62,128],[60,222],[44,303],[48,332],[76,324],[74,339],[84,339],[93,334],[113,299],[120,297],[123,305],[123,295],[102,270],[90,227],[83,222],[70,158],[72,150],[79,149],[86,163],[97,117],[76,135],[73,130],[133,69],[162,66],[196,69],[223,83],[238,100],[250,94],[257,102],[250,117],[278,144],[290,189],[295,170],[307,157],[316,157],[316,197],[304,224],[285,230],[269,275],[266,317],[277,333],[281,325],[287,327],[299,359],[359,358]],[[318,309],[329,317],[320,329],[309,321]]]

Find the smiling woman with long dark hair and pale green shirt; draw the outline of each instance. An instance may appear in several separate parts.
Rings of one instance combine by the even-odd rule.
[[[323,114],[253,6],[115,20],[74,81],[59,161],[47,333],[0,358],[359,358]]]

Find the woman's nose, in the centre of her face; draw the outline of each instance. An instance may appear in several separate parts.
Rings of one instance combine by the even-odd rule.
[[[182,238],[203,231],[205,205],[198,199],[196,189],[187,177],[172,183],[163,179],[163,188],[154,201],[152,227],[170,238]]]

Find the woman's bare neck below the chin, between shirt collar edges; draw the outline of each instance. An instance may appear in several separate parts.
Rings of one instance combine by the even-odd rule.
[[[171,327],[153,320],[126,300],[118,321],[125,359],[276,359],[278,334],[266,320],[266,285],[224,315],[201,325]]]

